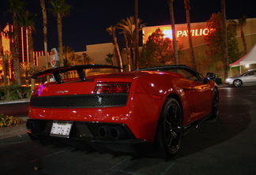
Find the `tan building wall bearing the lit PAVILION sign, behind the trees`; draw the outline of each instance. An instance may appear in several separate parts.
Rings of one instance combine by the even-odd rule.
[[[194,47],[194,55],[196,58],[197,69],[198,69],[198,72],[205,75],[205,73],[209,72],[209,68],[205,67],[205,64],[204,64],[205,50],[207,49],[207,46],[205,43],[205,35],[209,35],[209,32],[213,32],[214,28],[207,28],[206,22],[190,23],[190,27],[191,27],[192,43]],[[151,35],[152,32],[155,32],[157,28],[160,28],[166,37],[172,39],[171,25],[152,26],[152,27],[142,28],[143,43],[146,43],[147,39],[149,38],[149,35]],[[175,31],[176,31],[176,39],[178,41],[178,44],[182,45],[183,47],[183,54],[179,58],[179,64],[190,65],[191,67],[193,67],[193,62],[190,58],[190,46],[189,46],[189,39],[187,35],[187,25],[175,24]],[[247,51],[249,51],[252,47],[254,47],[254,44],[256,43],[256,18],[247,19],[247,24],[243,27],[243,32],[244,32],[244,36],[247,43]],[[242,52],[243,43],[242,43],[239,28],[237,28],[236,39],[239,43],[239,51]],[[251,65],[251,66],[254,66],[254,65]],[[246,68],[243,68],[243,70],[245,71]],[[224,76],[223,65],[221,63],[217,64],[213,68],[213,72],[223,77]]]

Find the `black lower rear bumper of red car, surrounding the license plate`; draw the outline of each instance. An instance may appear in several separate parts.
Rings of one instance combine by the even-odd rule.
[[[32,128],[31,122],[34,122]],[[51,125],[53,121],[28,119],[28,135],[33,140],[40,140],[41,143],[56,144],[59,143],[77,147],[82,151],[96,150],[100,153],[131,153],[140,155],[154,151],[154,143],[134,138],[130,129],[126,125],[73,122],[73,128],[70,131],[70,138],[50,136]],[[100,127],[122,127],[125,133],[122,137],[100,135]],[[120,129],[120,128],[119,128]]]

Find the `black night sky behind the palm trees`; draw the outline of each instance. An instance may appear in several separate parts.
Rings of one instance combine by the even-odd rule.
[[[37,13],[36,32],[34,32],[34,50],[43,50],[43,23],[40,0],[24,0],[26,8]],[[47,0],[46,0],[47,2]],[[171,24],[167,0],[138,0],[138,17],[145,26]],[[134,15],[134,0],[66,0],[73,6],[70,17],[62,19],[63,45],[75,51],[85,51],[85,45],[110,43],[111,35],[106,28],[117,24],[120,20]],[[220,0],[190,0],[190,22],[205,22],[212,13],[220,12]],[[48,4],[47,4],[48,7]],[[7,12],[7,0],[1,0],[0,26],[13,24],[11,14]],[[186,11],[183,0],[175,0],[175,23],[186,23]],[[254,0],[226,0],[227,19],[256,17]],[[48,16],[48,50],[58,47],[56,18],[51,12]]]

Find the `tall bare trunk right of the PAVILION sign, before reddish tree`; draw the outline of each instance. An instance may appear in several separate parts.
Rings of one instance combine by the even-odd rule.
[[[221,0],[221,13],[223,15],[223,39],[224,39],[224,46],[223,46],[223,63],[224,63],[224,79],[228,77],[228,37],[227,37],[227,27],[226,27],[226,5],[225,0]]]

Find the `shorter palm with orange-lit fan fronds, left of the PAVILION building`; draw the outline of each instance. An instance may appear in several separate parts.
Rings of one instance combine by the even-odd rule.
[[[140,24],[141,20],[137,19],[137,24]],[[136,47],[136,42],[135,42],[135,36],[136,36],[136,23],[135,23],[135,19],[134,17],[126,17],[126,19],[122,19],[121,22],[119,22],[117,24],[117,28],[121,29],[122,33],[124,35],[125,38],[125,42],[126,42],[126,54],[127,54],[127,62],[128,62],[128,71],[130,71],[130,45],[132,47],[132,50],[134,51],[134,55],[135,55],[135,47]],[[140,29],[141,30],[141,29]],[[135,61],[134,61],[135,62]],[[136,66],[134,66],[134,68],[136,69]]]

